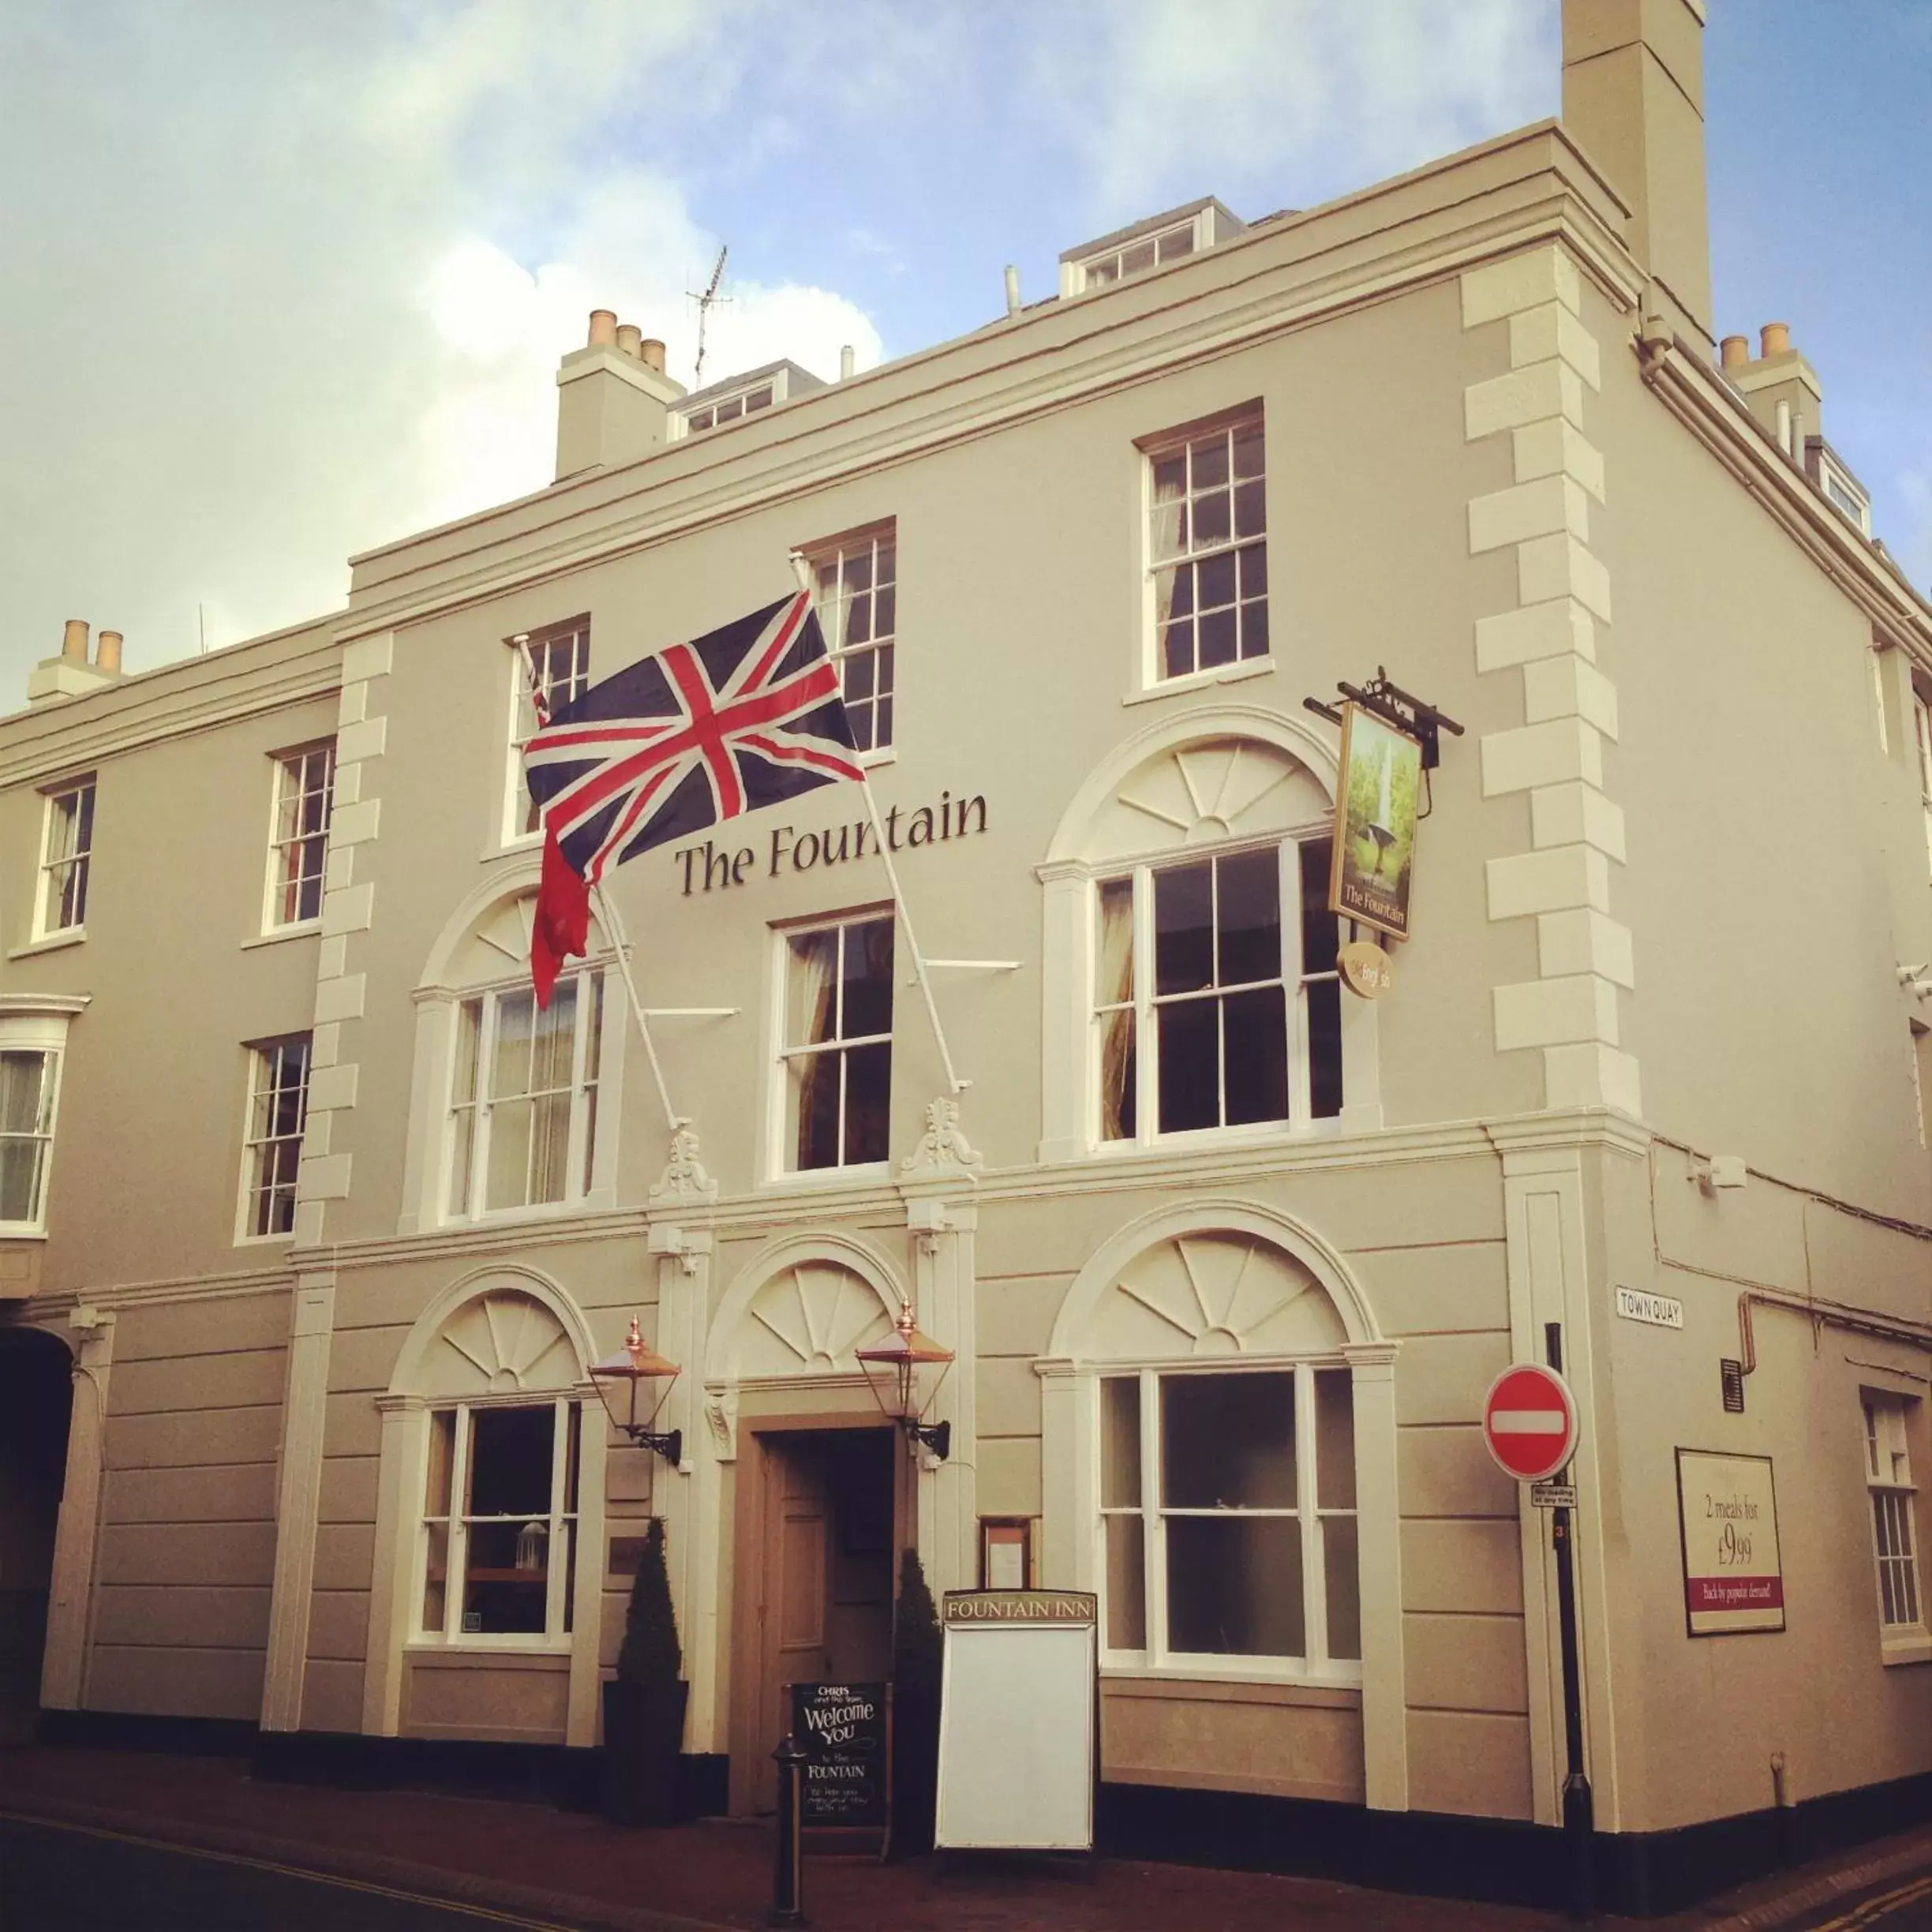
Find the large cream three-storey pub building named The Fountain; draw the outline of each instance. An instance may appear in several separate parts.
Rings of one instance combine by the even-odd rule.
[[[1714,354],[1698,35],[1571,6],[1563,124],[858,379],[690,402],[599,313],[549,489],[189,663],[70,628],[0,721],[44,1710],[589,1748],[657,1515],[721,1806],[912,1546],[1099,1592],[1138,1830],[1534,1889],[1549,1519],[1480,1414],[1555,1341],[1613,1895],[1926,1804],[1932,612],[1804,357]],[[520,641],[562,697],[792,553],[910,920],[833,786],[618,869],[539,1012]],[[1466,734],[1362,999],[1302,699],[1378,667]],[[902,1306],[943,1461],[854,1356]],[[634,1314],[676,1464],[587,1381]],[[1733,1503],[1781,1627],[1694,1607]]]

